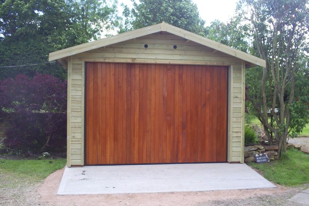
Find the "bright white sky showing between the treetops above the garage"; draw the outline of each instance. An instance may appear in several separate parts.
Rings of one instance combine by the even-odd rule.
[[[234,14],[236,2],[239,0],[193,0],[197,4],[198,11],[203,20],[206,21],[206,26],[210,25],[215,19],[226,23]],[[122,15],[121,3],[132,7],[130,0],[118,0],[119,15]]]

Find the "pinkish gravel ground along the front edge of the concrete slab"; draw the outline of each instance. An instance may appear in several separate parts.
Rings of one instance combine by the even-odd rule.
[[[99,205],[282,205],[296,206],[287,201],[309,187],[229,190],[207,192],[173,192],[116,195],[56,195],[63,169],[51,174],[43,183],[23,184],[16,188],[2,188],[6,182],[0,176],[1,206],[99,206]]]

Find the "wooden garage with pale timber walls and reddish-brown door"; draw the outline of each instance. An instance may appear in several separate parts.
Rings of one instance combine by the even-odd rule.
[[[50,53],[68,69],[67,165],[243,162],[245,69],[166,23]]]

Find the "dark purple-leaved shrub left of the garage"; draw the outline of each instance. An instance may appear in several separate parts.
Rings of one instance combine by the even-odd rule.
[[[0,115],[11,128],[3,144],[23,152],[61,148],[66,142],[66,81],[37,74],[0,81]]]

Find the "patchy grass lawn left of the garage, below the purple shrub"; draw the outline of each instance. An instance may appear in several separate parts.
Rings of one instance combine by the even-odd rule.
[[[53,163],[50,163],[52,161]],[[66,159],[7,160],[0,159],[0,188],[37,183],[66,165]]]

